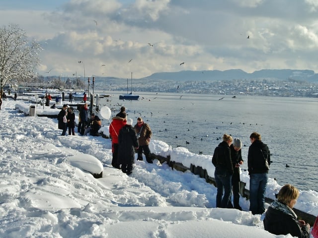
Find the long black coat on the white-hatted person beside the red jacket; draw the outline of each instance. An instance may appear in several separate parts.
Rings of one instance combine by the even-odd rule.
[[[139,147],[135,129],[125,125],[118,135],[118,159],[121,164],[128,164],[134,160],[135,148]]]

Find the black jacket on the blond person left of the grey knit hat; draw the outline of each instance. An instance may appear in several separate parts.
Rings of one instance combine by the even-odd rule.
[[[212,164],[217,167],[224,167],[227,171],[233,175],[233,165],[231,160],[231,150],[228,142],[223,141],[221,142],[218,147],[215,148],[213,157],[212,157]]]

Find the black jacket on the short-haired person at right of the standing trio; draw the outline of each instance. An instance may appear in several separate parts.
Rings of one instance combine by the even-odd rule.
[[[265,164],[267,160],[268,167]],[[268,173],[270,165],[270,151],[268,146],[260,140],[255,140],[248,148],[247,166],[248,174]]]

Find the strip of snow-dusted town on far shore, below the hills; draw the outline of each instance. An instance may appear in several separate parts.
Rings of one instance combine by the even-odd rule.
[[[305,81],[281,80],[224,80],[224,81],[159,81],[138,83],[134,92],[202,93],[224,95],[253,95],[281,97],[318,97],[318,84]],[[178,89],[177,89],[178,88]],[[107,90],[107,88],[105,88]],[[110,86],[112,91],[125,91],[124,86]],[[109,90],[108,89],[108,90]]]

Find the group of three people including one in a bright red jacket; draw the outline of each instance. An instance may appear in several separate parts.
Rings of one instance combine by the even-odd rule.
[[[112,118],[109,126],[109,135],[112,141],[112,166],[121,169],[123,173],[130,175],[135,161],[143,161],[143,153],[146,161],[153,163],[153,157],[149,149],[152,136],[150,126],[142,118],[137,119],[133,127],[133,119],[127,119],[126,108],[121,107],[120,112]]]

